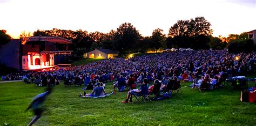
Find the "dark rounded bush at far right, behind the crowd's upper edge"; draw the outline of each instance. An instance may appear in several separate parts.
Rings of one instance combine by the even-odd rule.
[[[245,40],[235,40],[233,42],[228,43],[228,51],[231,53],[240,53],[240,52],[251,52],[254,50],[253,47],[253,40],[252,39],[245,39]]]

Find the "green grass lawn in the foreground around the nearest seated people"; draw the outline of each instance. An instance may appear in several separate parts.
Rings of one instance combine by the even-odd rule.
[[[182,83],[182,94],[168,100],[121,103],[127,92],[85,99],[78,98],[82,87],[61,83],[46,100],[48,109],[36,125],[255,125],[256,103],[240,102],[240,91],[224,86],[199,92],[191,90],[190,84]],[[107,83],[106,92],[111,89],[112,83]],[[25,108],[43,91],[44,87],[22,82],[0,84],[0,125],[27,125],[33,114]]]

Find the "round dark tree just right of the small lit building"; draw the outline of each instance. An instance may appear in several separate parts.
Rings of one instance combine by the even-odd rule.
[[[114,33],[113,49],[119,51],[120,55],[125,55],[137,49],[139,39],[139,31],[131,23],[124,23]]]

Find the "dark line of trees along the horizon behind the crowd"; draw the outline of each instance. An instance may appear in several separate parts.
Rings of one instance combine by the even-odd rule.
[[[78,55],[95,48],[112,49],[121,55],[166,48],[224,49],[228,48],[229,44],[227,43],[247,39],[247,33],[230,34],[224,38],[222,36],[214,37],[212,32],[213,29],[211,29],[209,21],[204,17],[196,17],[190,20],[178,20],[169,28],[167,35],[163,33],[163,29],[157,28],[153,30],[151,36],[142,36],[131,23],[123,23],[109,33],[88,33],[82,29],[72,31],[53,28],[51,30],[37,29],[33,32],[33,36],[60,36],[72,40],[72,48]],[[231,47],[233,48],[234,45]]]

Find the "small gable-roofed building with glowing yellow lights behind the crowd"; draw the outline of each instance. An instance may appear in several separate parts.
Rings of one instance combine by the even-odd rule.
[[[114,58],[118,54],[110,49],[95,49],[86,53],[87,58]]]

